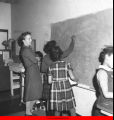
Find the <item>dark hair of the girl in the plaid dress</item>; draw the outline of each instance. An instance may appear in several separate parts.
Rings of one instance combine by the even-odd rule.
[[[61,50],[61,48],[59,46],[55,46],[51,49],[51,52],[49,55],[51,60],[55,62],[61,59],[62,54],[63,54],[63,51]]]

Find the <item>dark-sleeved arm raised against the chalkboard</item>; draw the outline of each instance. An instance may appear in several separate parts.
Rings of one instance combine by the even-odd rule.
[[[72,53],[72,51],[73,51],[73,49],[74,49],[74,46],[75,46],[75,39],[76,39],[76,36],[73,35],[73,36],[71,37],[71,43],[70,43],[70,45],[69,45],[69,48],[68,48],[67,50],[63,51],[63,55],[62,55],[62,57],[61,57],[62,59],[68,57],[68,56]]]

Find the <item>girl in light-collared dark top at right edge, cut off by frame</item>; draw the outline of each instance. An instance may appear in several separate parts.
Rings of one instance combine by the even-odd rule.
[[[104,48],[99,55],[99,62],[101,65],[96,73],[96,80],[98,83],[98,98],[96,101],[96,110],[94,115],[100,116],[100,108],[107,109],[113,106],[113,47],[108,46]]]

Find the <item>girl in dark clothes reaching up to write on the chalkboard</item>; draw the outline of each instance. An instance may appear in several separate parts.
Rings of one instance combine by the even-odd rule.
[[[71,43],[69,45],[69,48],[65,51],[63,51],[63,54],[61,55],[61,59],[64,59],[65,57],[68,57],[68,55],[73,51],[74,45],[75,45],[75,39],[76,36],[73,35],[71,37]],[[47,78],[47,73],[49,66],[53,64],[53,61],[50,59],[50,54],[51,54],[51,49],[53,47],[57,46],[56,41],[51,40],[47,42],[47,44],[44,46],[44,52],[46,55],[43,58],[42,65],[41,65],[41,72],[44,73],[44,87],[43,87],[43,98],[48,102],[50,99],[50,85],[48,84],[48,78]]]

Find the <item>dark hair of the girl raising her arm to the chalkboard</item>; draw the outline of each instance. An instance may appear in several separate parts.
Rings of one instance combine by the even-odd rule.
[[[45,45],[44,45],[44,48],[43,48],[43,51],[46,53],[46,54],[49,54],[51,49],[53,47],[56,46],[56,41],[55,40],[51,40],[49,42],[47,42]]]

